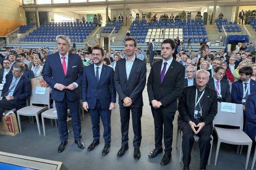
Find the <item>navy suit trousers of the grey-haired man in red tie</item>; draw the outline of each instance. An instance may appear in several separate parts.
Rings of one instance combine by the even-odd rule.
[[[69,107],[70,115],[72,118],[74,139],[81,139],[80,100],[71,102],[69,99],[67,99],[67,95],[65,94],[64,99],[61,102],[55,101],[55,103],[58,114],[58,129],[61,141],[63,142],[69,137],[67,130],[67,107]]]

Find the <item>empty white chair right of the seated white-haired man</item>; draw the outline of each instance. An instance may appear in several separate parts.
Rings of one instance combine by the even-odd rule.
[[[236,104],[236,113],[229,113],[221,111],[221,103],[218,103],[218,113],[213,120],[213,126],[215,124],[224,124],[229,126],[237,126],[239,129],[226,129],[222,127],[214,127],[214,130],[218,137],[218,144],[216,148],[215,165],[218,159],[218,153],[220,150],[221,142],[232,145],[248,145],[247,158],[245,163],[245,169],[247,169],[248,161],[250,157],[250,150],[252,148],[252,140],[244,131],[243,127],[243,108],[242,104]]]

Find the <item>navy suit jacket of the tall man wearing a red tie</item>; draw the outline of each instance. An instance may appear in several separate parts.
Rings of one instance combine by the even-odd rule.
[[[75,82],[79,86],[81,85],[83,75],[83,63],[79,55],[69,53],[66,76],[64,75],[59,52],[48,56],[43,70],[43,78],[45,79],[46,83],[48,83],[49,86],[52,87],[53,91],[51,93],[51,98],[53,100],[61,102],[64,99],[65,94],[67,95],[67,99],[69,99],[71,102],[80,99],[80,87],[75,88],[73,91],[70,91],[68,89],[65,89],[64,91],[54,89],[54,85],[56,83],[61,83],[64,86],[69,86],[69,84]]]

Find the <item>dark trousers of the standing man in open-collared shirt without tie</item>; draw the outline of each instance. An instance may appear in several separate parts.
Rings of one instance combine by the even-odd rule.
[[[121,117],[122,147],[128,145],[128,132],[130,121],[130,110],[132,111],[132,127],[134,129],[134,148],[139,148],[142,142],[142,107],[119,107]]]

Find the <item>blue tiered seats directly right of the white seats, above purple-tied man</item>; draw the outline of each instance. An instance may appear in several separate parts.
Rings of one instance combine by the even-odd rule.
[[[183,20],[183,42],[208,42],[207,31],[203,20]]]

